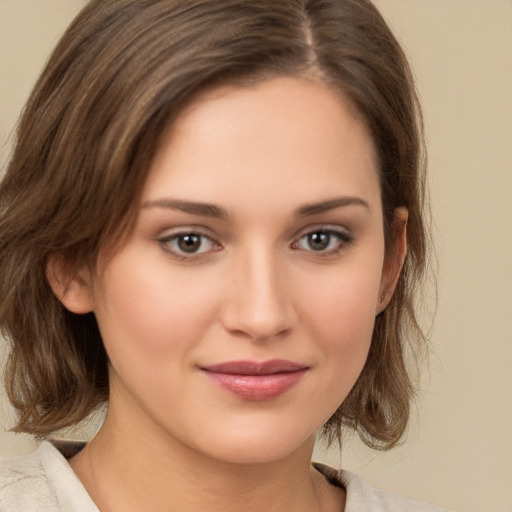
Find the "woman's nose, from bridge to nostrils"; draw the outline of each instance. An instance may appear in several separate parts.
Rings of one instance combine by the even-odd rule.
[[[266,341],[289,333],[297,321],[287,272],[271,251],[240,255],[230,275],[222,322],[229,332]]]

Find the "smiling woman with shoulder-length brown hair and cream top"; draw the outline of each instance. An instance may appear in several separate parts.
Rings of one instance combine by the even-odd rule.
[[[406,428],[421,142],[369,1],[90,2],[1,185],[0,324],[18,431],[108,412],[5,510],[438,510],[311,466]]]

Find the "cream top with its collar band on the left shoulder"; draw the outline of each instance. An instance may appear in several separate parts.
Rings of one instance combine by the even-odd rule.
[[[29,455],[0,458],[0,512],[97,512],[63,455],[74,450],[67,445],[43,442]]]

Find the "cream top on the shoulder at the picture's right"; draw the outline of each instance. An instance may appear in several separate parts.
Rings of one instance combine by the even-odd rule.
[[[446,508],[376,489],[350,471],[336,471],[322,464],[315,467],[334,485],[346,489],[345,512],[451,512]]]

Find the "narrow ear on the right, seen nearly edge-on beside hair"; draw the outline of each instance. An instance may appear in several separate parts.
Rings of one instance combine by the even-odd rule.
[[[382,268],[377,314],[382,313],[389,304],[404,265],[405,255],[407,254],[408,218],[409,211],[407,208],[395,208],[391,226],[391,241],[386,250]]]

